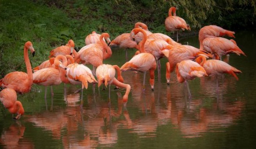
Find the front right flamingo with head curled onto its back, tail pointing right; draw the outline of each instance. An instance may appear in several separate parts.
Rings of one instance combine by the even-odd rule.
[[[200,66],[204,67],[204,70],[206,71],[208,76],[216,76],[217,92],[219,92],[218,76],[222,76],[224,73],[228,73],[234,76],[236,80],[238,80],[236,73],[242,73],[242,71],[230,66],[228,63],[221,60],[206,60],[205,57],[199,56],[196,58],[196,62],[200,64]]]

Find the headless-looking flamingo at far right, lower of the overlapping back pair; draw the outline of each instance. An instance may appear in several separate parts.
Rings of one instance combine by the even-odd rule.
[[[222,37],[215,37],[215,38],[205,38],[203,40],[203,49],[212,52],[217,53],[217,55],[220,57],[220,60],[222,60],[223,55],[227,55],[229,53],[236,53],[237,55],[245,55],[245,53],[236,45],[236,42],[233,39],[226,39]]]

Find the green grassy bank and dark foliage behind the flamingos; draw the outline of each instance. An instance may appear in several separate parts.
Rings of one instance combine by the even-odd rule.
[[[209,24],[237,29],[255,23],[255,0],[0,0],[0,75],[25,70],[26,41],[34,44],[35,67],[70,38],[84,46],[85,36],[93,30],[108,32],[114,39],[142,21],[152,32],[171,35],[164,27],[170,6],[177,7],[177,15],[192,30]]]

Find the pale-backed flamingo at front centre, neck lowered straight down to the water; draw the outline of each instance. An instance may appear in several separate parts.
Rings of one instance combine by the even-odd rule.
[[[135,70],[135,71],[143,72],[144,73],[143,90],[145,90],[146,72],[149,71],[150,73],[149,82],[151,85],[151,89],[154,90],[154,79],[155,79],[154,71],[156,69],[156,60],[152,54],[140,53],[138,55],[135,55],[129,62],[126,62],[120,69],[121,71]]]

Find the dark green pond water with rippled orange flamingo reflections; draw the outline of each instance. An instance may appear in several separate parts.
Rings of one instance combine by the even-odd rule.
[[[123,106],[125,90],[108,89],[92,85],[84,90],[84,103],[80,108],[80,93],[72,94],[80,86],[54,86],[53,102],[48,89],[47,110],[44,87],[33,85],[29,94],[19,95],[25,115],[12,119],[0,107],[0,148],[254,148],[256,145],[256,38],[255,32],[237,32],[236,42],[247,57],[231,54],[229,64],[240,69],[236,81],[230,75],[219,78],[219,94],[215,78],[196,78],[189,81],[192,99],[172,73],[171,84],[165,80],[162,59],[161,80],[155,71],[155,90],[151,91],[149,74],[146,91],[142,93],[143,74],[124,72],[125,82],[132,90],[128,103]],[[199,46],[197,36],[181,43]],[[131,58],[135,50],[129,50]],[[113,50],[106,64],[121,66],[125,62],[124,50]],[[121,96],[120,96],[121,95]],[[110,108],[109,108],[110,107]]]

